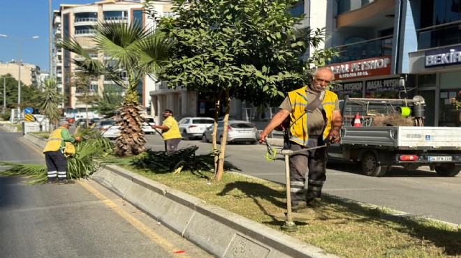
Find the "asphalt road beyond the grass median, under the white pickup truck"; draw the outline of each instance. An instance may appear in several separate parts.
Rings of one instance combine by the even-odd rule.
[[[163,150],[159,135],[147,135],[147,146]],[[199,146],[199,153],[209,153],[212,144],[200,140],[181,141],[180,147]],[[265,158],[265,144],[228,144],[226,160],[242,169],[242,174],[285,183],[284,159]],[[353,162],[330,160],[327,165],[327,181],[324,192],[358,202],[394,208],[398,211],[423,215],[461,225],[461,176],[439,177],[429,167],[406,172],[402,167],[381,178],[364,176]]]

